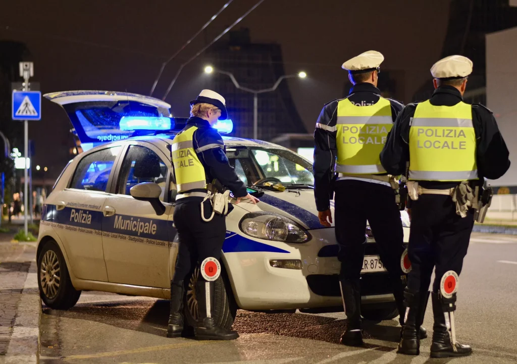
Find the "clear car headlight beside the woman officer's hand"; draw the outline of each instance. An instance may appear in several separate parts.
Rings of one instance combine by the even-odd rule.
[[[246,235],[258,239],[306,242],[311,238],[309,232],[295,221],[269,211],[246,214],[240,220],[239,227]]]

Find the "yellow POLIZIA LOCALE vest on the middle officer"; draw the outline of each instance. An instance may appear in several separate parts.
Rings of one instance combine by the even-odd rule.
[[[356,106],[348,99],[338,102],[336,172],[386,173],[379,154],[393,126],[391,104],[379,97],[373,105]]]

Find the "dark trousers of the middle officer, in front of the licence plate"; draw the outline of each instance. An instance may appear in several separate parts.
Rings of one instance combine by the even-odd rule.
[[[391,187],[355,179],[335,183],[336,239],[341,262],[340,280],[359,279],[370,224],[381,261],[392,280],[403,275],[400,259],[405,250],[400,211]]]

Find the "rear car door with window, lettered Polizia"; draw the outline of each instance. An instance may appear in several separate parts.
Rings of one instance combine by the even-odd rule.
[[[68,255],[68,268],[80,279],[108,281],[102,249],[102,207],[121,150],[121,146],[114,146],[85,154],[68,187],[53,196],[55,229]]]

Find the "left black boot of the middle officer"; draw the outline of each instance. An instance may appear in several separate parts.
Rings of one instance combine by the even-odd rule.
[[[361,330],[361,286],[359,280],[343,279],[340,281],[341,293],[345,305],[346,330],[341,335],[340,343],[347,346],[362,346]]]

